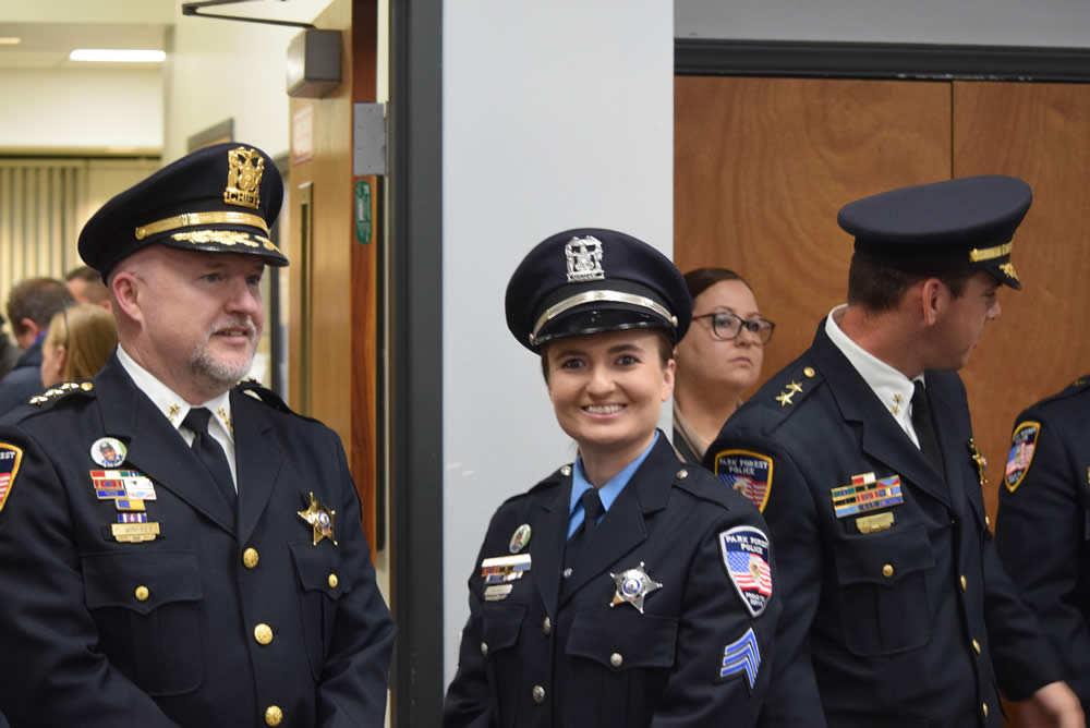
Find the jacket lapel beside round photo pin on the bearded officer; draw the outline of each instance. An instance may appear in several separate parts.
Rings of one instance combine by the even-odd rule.
[[[126,462],[233,534],[233,515],[223,496],[208,482],[181,434],[133,384],[116,353],[95,377],[95,388],[106,434],[129,442]]]

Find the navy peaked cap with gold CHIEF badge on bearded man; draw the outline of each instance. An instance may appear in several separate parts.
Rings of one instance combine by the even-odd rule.
[[[122,259],[155,243],[286,266],[269,239],[282,201],[283,182],[267,154],[238,142],[216,144],[106,203],[80,233],[80,256],[104,280]]]

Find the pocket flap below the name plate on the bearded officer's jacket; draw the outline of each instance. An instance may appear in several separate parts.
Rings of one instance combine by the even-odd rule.
[[[171,602],[196,602],[201,569],[191,551],[89,554],[83,563],[88,609],[122,607],[147,615]]]

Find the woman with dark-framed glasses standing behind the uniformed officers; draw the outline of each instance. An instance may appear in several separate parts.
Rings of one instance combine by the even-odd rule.
[[[749,283],[734,270],[698,268],[685,282],[693,316],[675,352],[674,449],[681,460],[699,463],[761,378],[776,325],[761,316]]]

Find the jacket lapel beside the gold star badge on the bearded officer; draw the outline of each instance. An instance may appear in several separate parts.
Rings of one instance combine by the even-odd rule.
[[[238,390],[231,392],[231,422],[239,474],[239,541],[244,543],[272,494],[283,449],[270,441],[275,435],[267,407]]]

